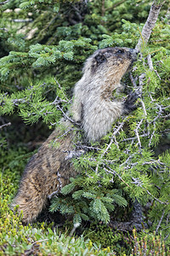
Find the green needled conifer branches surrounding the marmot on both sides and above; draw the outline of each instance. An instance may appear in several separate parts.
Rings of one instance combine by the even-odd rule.
[[[20,148],[20,139],[14,137],[14,128],[8,122],[15,119],[18,127],[21,118],[26,125],[45,123],[49,129],[59,125],[70,107],[72,87],[81,77],[82,63],[95,49],[134,48],[150,4],[149,0],[14,0],[1,5],[1,187],[4,195],[10,195],[1,199],[5,206],[26,164],[15,157],[16,147],[21,158],[30,154],[23,144]],[[139,92],[137,110],[118,119],[101,143],[91,144],[87,154],[72,159],[81,174],[71,178],[59,197],[52,200],[50,211],[71,215],[74,224],[94,219],[107,224],[111,216],[120,220],[117,209],[123,212],[137,199],[144,206],[150,202],[145,216],[150,231],[161,230],[161,236],[169,242],[170,154],[165,150],[170,137],[169,7],[166,1],[150,43],[143,46],[133,67],[131,81],[128,76],[122,81],[126,85],[123,96],[129,90]],[[22,129],[26,129],[24,125]],[[80,142],[75,147],[80,147]],[[3,161],[7,152],[11,152],[5,160],[9,166]],[[16,172],[14,167],[19,163]],[[15,170],[14,179],[8,168]],[[14,183],[14,187],[7,189],[8,183]]]

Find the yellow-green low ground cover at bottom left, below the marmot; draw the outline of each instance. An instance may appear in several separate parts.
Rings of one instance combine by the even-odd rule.
[[[17,147],[16,147],[17,148]],[[22,214],[10,203],[18,189],[21,172],[30,156],[26,148],[0,151],[0,255],[114,255],[111,249],[94,246],[89,239],[70,237],[67,230],[57,230],[54,223],[24,226]],[[62,234],[63,233],[63,234]]]

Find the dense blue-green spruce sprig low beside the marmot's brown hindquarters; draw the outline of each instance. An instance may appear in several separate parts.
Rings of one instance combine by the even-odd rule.
[[[96,185],[99,183],[99,178],[94,175],[92,177],[92,181],[83,177],[71,178],[71,183],[61,189],[62,195],[71,194],[71,196],[54,198],[50,210],[52,212],[59,211],[62,214],[72,214],[74,224],[81,224],[82,219],[88,220],[89,218],[108,223],[110,221],[109,212],[113,212],[115,209],[114,204],[125,207],[127,201],[122,195],[119,195],[117,189]],[[80,189],[73,192],[77,186]]]

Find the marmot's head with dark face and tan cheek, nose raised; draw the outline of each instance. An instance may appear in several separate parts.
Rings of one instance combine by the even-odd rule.
[[[133,61],[136,61],[137,54],[137,50],[126,47],[98,49],[88,57],[83,73],[88,73],[90,77],[99,73],[105,77],[107,74],[115,74],[117,79],[121,79]]]

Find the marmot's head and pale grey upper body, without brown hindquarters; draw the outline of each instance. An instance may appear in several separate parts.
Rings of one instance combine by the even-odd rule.
[[[105,136],[115,119],[127,111],[125,102],[111,101],[111,94],[122,89],[122,76],[136,55],[133,49],[106,48],[95,51],[86,61],[82,79],[75,85],[72,114],[81,122],[88,140]],[[131,103],[126,108],[131,108]]]

